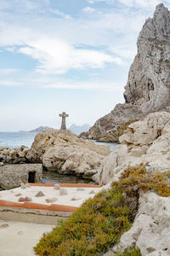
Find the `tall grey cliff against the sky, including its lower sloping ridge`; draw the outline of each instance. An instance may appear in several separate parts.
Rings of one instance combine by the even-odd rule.
[[[97,120],[86,137],[117,142],[127,125],[147,113],[170,110],[170,12],[161,3],[145,21],[130,67],[124,104]],[[84,136],[84,134],[83,134]]]

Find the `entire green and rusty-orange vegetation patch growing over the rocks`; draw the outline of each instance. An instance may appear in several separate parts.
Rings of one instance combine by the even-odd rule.
[[[129,230],[138,211],[139,190],[151,190],[161,196],[170,195],[167,175],[148,173],[145,166],[128,167],[120,182],[112,183],[88,199],[70,218],[48,235],[43,235],[35,247],[38,255],[89,256],[102,255],[116,245]],[[138,248],[128,248],[124,254],[141,255]]]

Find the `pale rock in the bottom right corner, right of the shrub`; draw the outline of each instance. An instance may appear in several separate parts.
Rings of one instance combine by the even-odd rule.
[[[118,246],[105,256],[127,247],[139,247],[144,256],[170,255],[170,198],[155,193],[140,195],[139,212],[133,227],[124,233]]]

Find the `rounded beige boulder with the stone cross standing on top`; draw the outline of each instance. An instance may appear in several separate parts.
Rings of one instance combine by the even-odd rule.
[[[42,162],[48,171],[91,177],[108,154],[109,146],[96,145],[71,131],[54,130],[38,133],[26,157],[31,162]]]

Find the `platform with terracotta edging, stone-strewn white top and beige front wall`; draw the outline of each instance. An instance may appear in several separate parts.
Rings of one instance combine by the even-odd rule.
[[[0,219],[37,224],[57,224],[60,218],[68,218],[77,211],[83,201],[99,192],[93,184],[63,183],[54,189],[54,183],[30,183],[26,189],[16,188],[0,192]],[[65,190],[62,195],[62,191]],[[38,192],[44,196],[37,197]],[[31,201],[19,202],[20,197]],[[54,203],[51,203],[54,201]]]

